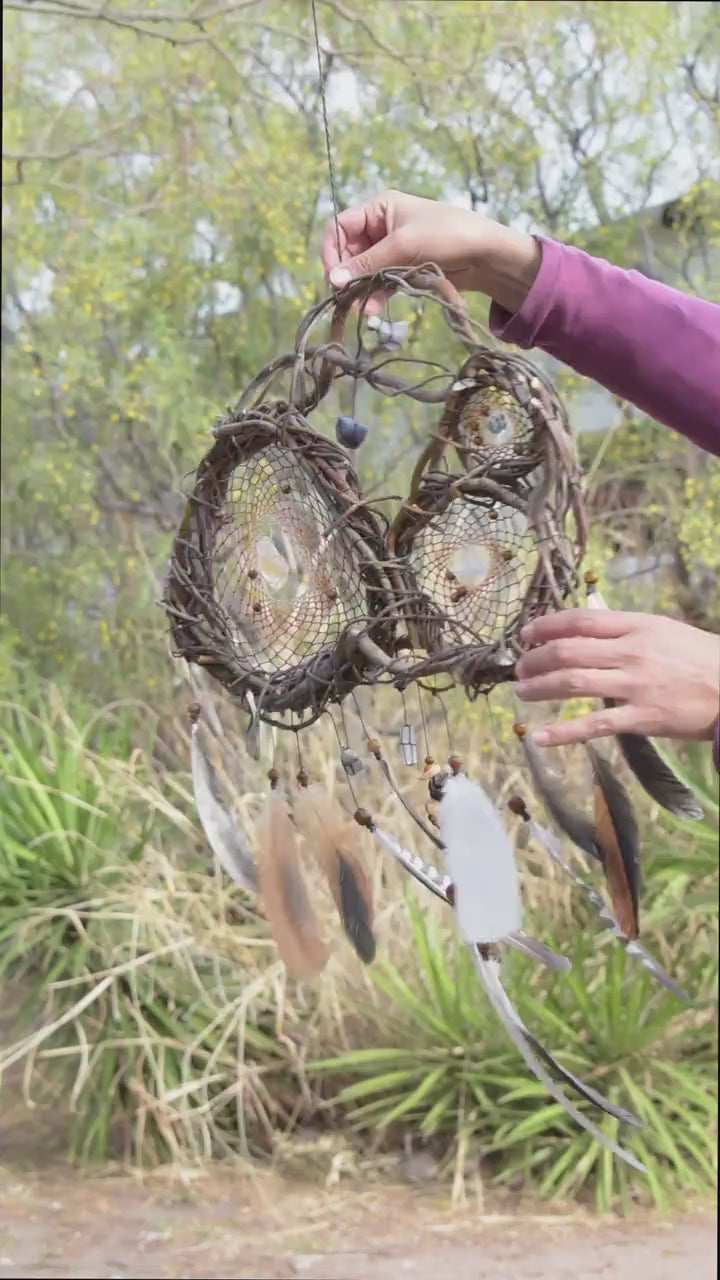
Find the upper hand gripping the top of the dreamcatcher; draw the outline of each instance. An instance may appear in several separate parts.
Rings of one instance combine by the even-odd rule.
[[[336,288],[387,268],[434,262],[456,289],[487,293],[507,311],[523,305],[541,259],[532,236],[468,209],[400,191],[383,191],[346,209],[337,228],[333,218],[322,247],[325,274]],[[382,301],[375,296],[365,310],[379,311]]]

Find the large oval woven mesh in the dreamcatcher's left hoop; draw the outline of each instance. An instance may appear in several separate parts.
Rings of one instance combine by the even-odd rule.
[[[234,468],[213,559],[236,654],[269,673],[313,657],[368,616],[348,532],[290,449],[269,445]]]

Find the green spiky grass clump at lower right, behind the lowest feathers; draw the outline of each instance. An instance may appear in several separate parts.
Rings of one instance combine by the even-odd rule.
[[[479,1149],[498,1183],[521,1175],[541,1194],[562,1198],[594,1187],[601,1212],[626,1211],[642,1179],[528,1075],[478,992],[466,948],[416,908],[410,920],[413,978],[387,960],[375,974],[383,996],[378,1042],[310,1065],[311,1073],[348,1082],[332,1106],[360,1133],[402,1124],[445,1143],[452,1138],[456,1153]],[[675,966],[684,946],[679,937],[666,947]],[[715,1179],[712,1014],[683,1010],[619,948],[605,950],[598,964],[589,933],[580,932],[571,951],[569,974],[528,975],[520,961],[509,966],[521,1016],[568,1068],[635,1110],[643,1129],[620,1140],[647,1162],[659,1207],[688,1189],[707,1193]],[[694,983],[711,991],[714,977],[711,951],[698,947]],[[606,1119],[605,1128],[619,1135],[615,1120]]]

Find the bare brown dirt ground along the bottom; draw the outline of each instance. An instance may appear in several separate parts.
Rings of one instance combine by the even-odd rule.
[[[0,1277],[711,1280],[716,1224],[598,1221],[447,1190],[332,1190],[219,1170],[82,1178],[0,1166]]]

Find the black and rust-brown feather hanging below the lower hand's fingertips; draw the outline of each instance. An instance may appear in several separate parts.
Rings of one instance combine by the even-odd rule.
[[[587,744],[593,771],[594,827],[602,869],[620,928],[633,941],[638,936],[639,833],[625,787],[609,760]]]

